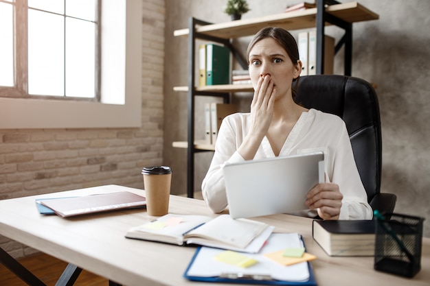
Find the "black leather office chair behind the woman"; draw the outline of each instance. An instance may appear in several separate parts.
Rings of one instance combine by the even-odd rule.
[[[373,86],[345,75],[308,75],[299,78],[296,90],[298,104],[345,121],[370,206],[381,213],[393,213],[396,195],[381,193],[381,117]]]

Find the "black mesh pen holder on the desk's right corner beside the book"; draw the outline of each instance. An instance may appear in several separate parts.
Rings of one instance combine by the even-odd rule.
[[[424,218],[396,213],[376,217],[374,269],[413,277],[421,269]]]

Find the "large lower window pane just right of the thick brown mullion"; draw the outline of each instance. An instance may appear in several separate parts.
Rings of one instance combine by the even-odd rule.
[[[28,93],[64,95],[64,18],[28,10]]]

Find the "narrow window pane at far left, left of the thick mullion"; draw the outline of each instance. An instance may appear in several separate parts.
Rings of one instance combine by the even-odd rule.
[[[0,86],[14,86],[12,5],[0,3]]]

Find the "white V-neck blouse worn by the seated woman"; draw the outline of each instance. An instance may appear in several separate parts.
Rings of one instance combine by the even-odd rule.
[[[251,124],[250,113],[236,113],[225,117],[218,131],[212,163],[202,183],[203,198],[214,213],[227,208],[223,176],[225,163],[245,161],[237,152]],[[326,182],[339,185],[343,194],[339,219],[372,219],[372,208],[361,182],[348,132],[343,120],[336,115],[310,109],[303,112],[286,138],[279,156],[324,151]],[[254,159],[273,158],[269,140],[264,137]],[[304,210],[300,215],[315,216]]]

